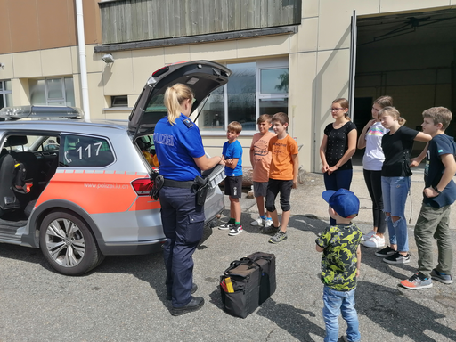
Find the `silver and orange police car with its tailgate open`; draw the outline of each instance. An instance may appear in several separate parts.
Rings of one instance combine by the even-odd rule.
[[[0,242],[41,248],[59,273],[79,275],[104,256],[160,250],[159,201],[151,199],[154,126],[167,115],[163,94],[189,85],[192,115],[231,71],[189,61],[154,72],[128,120],[90,120],[69,107],[4,108],[0,117]],[[224,209],[213,184],[206,224]]]

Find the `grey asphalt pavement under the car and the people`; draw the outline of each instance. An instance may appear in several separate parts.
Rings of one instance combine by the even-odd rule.
[[[291,194],[288,240],[270,244],[267,235],[250,225],[257,208],[247,193],[241,199],[240,235],[205,230],[193,259],[199,286],[195,296],[204,297],[206,304],[178,317],[169,313],[161,254],[108,256],[93,272],[67,277],[54,273],[37,249],[0,244],[0,341],[322,341],[321,254],[314,240],[329,224],[328,206],[321,197],[322,175],[300,178]],[[362,341],[456,340],[456,284],[435,281],[433,288],[417,291],[398,286],[417,267],[412,230],[422,187],[418,169],[406,212],[411,263],[387,265],[374,255],[375,249],[362,248],[355,293]],[[361,167],[354,167],[351,190],[362,206],[354,222],[369,232],[371,200]],[[225,210],[222,219],[228,214]],[[277,290],[246,319],[232,317],[223,311],[219,276],[232,260],[256,251],[275,254]],[[339,322],[342,335],[346,325]]]

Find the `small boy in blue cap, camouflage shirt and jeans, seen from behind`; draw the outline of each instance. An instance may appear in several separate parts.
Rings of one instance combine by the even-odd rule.
[[[362,232],[351,222],[358,215],[360,201],[346,189],[324,191],[322,197],[330,204],[328,212],[336,220],[316,240],[322,255],[323,318],[326,326],[324,342],[338,341],[338,316],[346,320],[343,340],[361,340],[358,315],[354,309],[356,277],[360,273]]]

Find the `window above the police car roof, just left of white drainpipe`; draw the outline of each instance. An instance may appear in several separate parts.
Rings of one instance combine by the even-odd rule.
[[[29,79],[30,103],[55,106],[75,106],[72,77]]]

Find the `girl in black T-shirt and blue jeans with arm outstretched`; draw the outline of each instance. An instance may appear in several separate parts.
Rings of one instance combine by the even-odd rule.
[[[381,189],[390,246],[379,250],[375,255],[384,257],[383,261],[388,264],[405,264],[410,262],[405,202],[411,186],[411,150],[414,141],[428,142],[431,136],[403,126],[405,120],[395,107],[380,110],[379,118],[381,124],[389,129],[381,142],[385,153]]]

